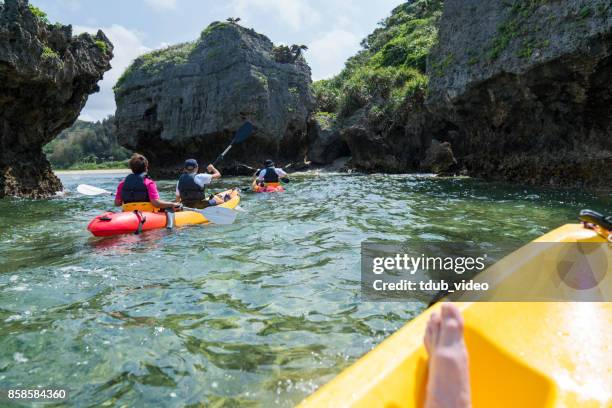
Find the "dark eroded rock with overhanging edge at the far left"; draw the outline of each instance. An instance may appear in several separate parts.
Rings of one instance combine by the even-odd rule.
[[[44,19],[26,0],[0,3],[0,198],[61,190],[42,146],[74,123],[111,67],[102,31],[73,37]]]

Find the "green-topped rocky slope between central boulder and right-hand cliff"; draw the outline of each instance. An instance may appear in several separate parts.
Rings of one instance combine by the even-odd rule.
[[[314,84],[317,110],[334,119],[335,132],[325,135],[325,143],[343,143],[344,148],[335,147],[334,154],[327,155],[312,150],[313,162],[331,163],[348,151],[352,167],[362,171],[421,168],[432,134],[443,128],[424,104],[426,60],[437,38],[441,10],[441,0],[401,4],[363,40],[363,49],[339,75]]]

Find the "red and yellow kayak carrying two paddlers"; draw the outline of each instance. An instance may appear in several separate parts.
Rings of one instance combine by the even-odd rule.
[[[216,196],[223,197],[225,194],[230,194],[231,198],[219,204],[219,207],[236,208],[240,203],[239,190],[224,191]],[[174,213],[174,217],[174,225],[177,227],[209,223],[206,217],[195,211],[177,211]],[[142,222],[143,219],[144,222]],[[106,212],[95,217],[89,223],[87,229],[97,237],[133,234],[138,230],[138,226],[141,222],[142,231],[165,228],[167,216],[165,212],[143,211],[140,214],[136,214],[133,211]]]

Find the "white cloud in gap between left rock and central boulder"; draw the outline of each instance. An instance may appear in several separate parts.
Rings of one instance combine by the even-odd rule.
[[[75,34],[83,32],[95,34],[98,28],[75,25],[73,30]],[[113,86],[136,57],[151,50],[143,44],[142,34],[138,31],[116,24],[110,27],[102,27],[102,31],[115,47],[113,50],[114,57],[111,60],[113,67],[104,74],[104,79],[98,83],[100,92],[89,96],[87,105],[81,112],[80,117],[83,120],[100,120],[115,113]]]

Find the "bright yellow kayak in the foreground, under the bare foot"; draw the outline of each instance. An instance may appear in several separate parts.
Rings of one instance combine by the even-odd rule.
[[[605,242],[574,224],[536,241]],[[608,249],[612,251],[612,246]],[[532,253],[522,253],[521,259],[542,262],[538,253],[529,250]],[[612,263],[607,268],[607,281],[602,283],[609,288]],[[509,272],[513,273],[521,271]],[[612,406],[611,302],[455,304],[465,320],[474,407]],[[439,307],[410,321],[300,407],[422,407],[427,376],[423,334]]]

